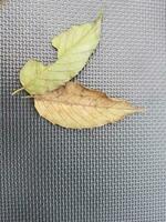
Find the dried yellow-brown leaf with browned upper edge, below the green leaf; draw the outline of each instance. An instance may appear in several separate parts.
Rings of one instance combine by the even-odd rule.
[[[53,124],[83,129],[114,123],[139,111],[128,102],[107,98],[105,93],[69,82],[65,87],[34,97],[39,114]]]

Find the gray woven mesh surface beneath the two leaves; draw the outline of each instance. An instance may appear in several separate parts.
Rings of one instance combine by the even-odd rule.
[[[92,130],[41,119],[11,97],[30,58],[54,61],[54,34],[104,8],[96,53],[77,77],[145,114]],[[1,17],[2,222],[166,221],[166,1],[3,0]]]

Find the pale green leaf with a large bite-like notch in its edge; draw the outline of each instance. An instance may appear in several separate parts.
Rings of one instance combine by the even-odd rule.
[[[56,62],[44,65],[30,60],[20,71],[20,81],[30,94],[43,94],[63,85],[86,64],[101,36],[102,14],[93,22],[73,26],[52,40]]]

